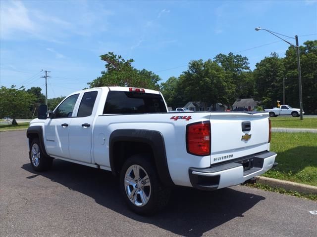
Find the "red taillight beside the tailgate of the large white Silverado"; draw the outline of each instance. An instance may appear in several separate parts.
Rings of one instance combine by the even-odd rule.
[[[186,127],[187,152],[196,156],[208,156],[211,153],[210,122],[197,122]]]

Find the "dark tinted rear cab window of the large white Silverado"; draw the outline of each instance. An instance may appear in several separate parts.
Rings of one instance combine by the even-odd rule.
[[[166,113],[166,106],[160,94],[130,91],[109,91],[104,114]]]

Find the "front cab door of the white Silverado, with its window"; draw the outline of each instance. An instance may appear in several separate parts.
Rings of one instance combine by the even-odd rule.
[[[69,158],[68,132],[79,94],[66,98],[55,110],[53,118],[45,125],[45,146],[49,155]]]

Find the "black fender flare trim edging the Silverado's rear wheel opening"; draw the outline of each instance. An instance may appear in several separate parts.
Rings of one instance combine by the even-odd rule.
[[[114,130],[109,137],[109,162],[111,171],[114,175],[116,175],[114,166],[114,144],[118,141],[142,142],[148,144],[152,148],[161,182],[166,186],[174,185],[169,174],[163,135],[159,131],[145,129]]]

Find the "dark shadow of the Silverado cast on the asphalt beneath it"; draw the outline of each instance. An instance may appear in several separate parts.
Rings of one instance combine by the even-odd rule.
[[[48,172],[37,173],[30,163],[23,164],[22,168],[30,172],[29,179],[43,175],[68,189],[94,198],[100,205],[121,215],[186,237],[202,236],[231,219],[243,217],[244,212],[265,199],[229,188],[205,192],[176,187],[162,212],[143,217],[127,208],[120,196],[117,179],[108,171],[58,159],[54,159],[53,169]]]

